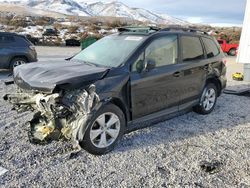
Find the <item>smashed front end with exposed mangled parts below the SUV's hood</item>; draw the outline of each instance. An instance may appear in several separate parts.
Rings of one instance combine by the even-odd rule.
[[[4,100],[13,104],[18,112],[33,111],[29,121],[29,139],[33,143],[44,144],[51,140],[66,138],[78,145],[84,137],[88,117],[99,103],[95,85],[85,89],[44,94],[25,92],[6,94]]]

